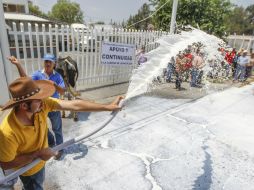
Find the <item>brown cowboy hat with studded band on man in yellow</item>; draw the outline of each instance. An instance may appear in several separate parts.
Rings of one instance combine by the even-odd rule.
[[[21,77],[9,85],[9,91],[12,95],[2,110],[12,108],[28,100],[41,100],[50,97],[55,92],[55,86],[51,81],[37,80],[30,77]]]

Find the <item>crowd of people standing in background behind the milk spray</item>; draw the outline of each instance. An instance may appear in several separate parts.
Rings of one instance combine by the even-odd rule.
[[[204,52],[201,43],[188,45],[184,51],[171,57],[167,68],[163,71],[165,81],[175,83],[175,89],[182,90],[182,82],[188,82],[190,87],[202,88],[204,78],[233,80],[244,82],[251,76],[254,66],[254,52],[241,48],[218,48],[217,55],[213,59]],[[222,59],[221,59],[222,58]],[[162,82],[160,77],[156,80]]]

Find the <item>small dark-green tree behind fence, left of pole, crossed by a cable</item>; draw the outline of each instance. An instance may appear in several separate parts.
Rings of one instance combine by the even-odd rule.
[[[149,17],[151,14],[151,10],[148,4],[143,4],[143,6],[138,10],[138,13],[134,16],[130,16],[127,20],[127,27],[137,30],[146,30],[148,25],[152,22],[151,18],[148,18],[140,23],[134,24],[138,21],[141,21],[147,17]],[[134,25],[133,25],[134,24]],[[131,26],[131,27],[129,27]]]

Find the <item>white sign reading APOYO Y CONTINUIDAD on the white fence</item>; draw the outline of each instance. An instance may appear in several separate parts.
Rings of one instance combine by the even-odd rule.
[[[135,56],[135,45],[103,42],[101,45],[101,64],[131,65]]]

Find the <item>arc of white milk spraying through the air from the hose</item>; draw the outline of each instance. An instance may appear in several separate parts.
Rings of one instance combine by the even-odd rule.
[[[157,42],[160,46],[146,54],[148,61],[133,71],[126,100],[148,92],[154,77],[161,75],[170,58],[175,57],[179,51],[183,51],[188,45],[201,42],[204,45],[204,59],[206,61],[211,59],[223,60],[217,49],[224,42],[198,29],[193,28],[189,32],[182,31],[181,34],[163,36]],[[206,72],[208,69],[208,64],[206,64],[204,71]]]

